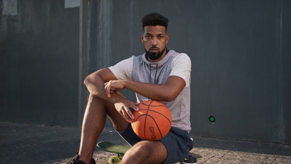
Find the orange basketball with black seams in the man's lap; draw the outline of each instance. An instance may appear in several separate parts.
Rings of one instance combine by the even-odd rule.
[[[140,103],[132,114],[131,127],[144,140],[160,140],[171,129],[172,116],[161,102],[148,100]]]

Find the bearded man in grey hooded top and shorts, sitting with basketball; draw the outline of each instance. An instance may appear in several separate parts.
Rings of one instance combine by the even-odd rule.
[[[132,146],[120,164],[176,163],[187,157],[193,148],[189,135],[190,58],[166,48],[168,18],[151,13],[144,16],[142,23],[145,54],[100,69],[85,79],[90,96],[83,119],[80,152],[70,163],[95,164],[92,156],[106,115]],[[136,93],[137,102],[118,92],[124,88]],[[140,102],[149,99],[162,101],[172,115],[171,130],[159,141],[143,141],[130,126],[132,112],[138,110]]]

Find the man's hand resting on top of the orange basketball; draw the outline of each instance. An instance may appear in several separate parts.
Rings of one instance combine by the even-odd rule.
[[[128,121],[131,122],[131,119],[134,119],[134,116],[132,115],[129,108],[133,108],[134,110],[138,111],[137,105],[140,104],[140,102],[133,102],[126,98],[122,98],[118,102],[114,102],[114,106],[116,110]]]

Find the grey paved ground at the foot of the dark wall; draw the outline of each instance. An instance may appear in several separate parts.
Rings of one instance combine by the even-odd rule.
[[[0,123],[0,163],[66,164],[78,151],[80,128]],[[191,152],[203,156],[197,164],[291,164],[291,145],[195,137]],[[98,142],[125,145],[112,129],[105,129]],[[108,164],[113,153],[95,148],[97,164]]]

